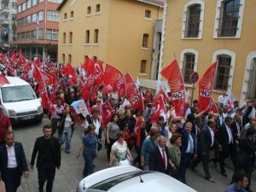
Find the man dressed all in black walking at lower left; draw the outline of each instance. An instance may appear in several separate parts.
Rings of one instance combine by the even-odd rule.
[[[38,183],[39,192],[44,191],[44,183],[47,181],[46,192],[51,192],[54,179],[55,167],[61,167],[61,147],[59,140],[51,136],[50,125],[44,125],[44,136],[38,137],[32,152],[31,168],[34,168],[34,162],[38,154]]]

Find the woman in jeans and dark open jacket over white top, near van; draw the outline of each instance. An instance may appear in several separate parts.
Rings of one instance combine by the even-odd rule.
[[[65,152],[70,153],[70,143],[73,133],[74,118],[70,113],[70,108],[65,108],[65,113],[61,118],[60,125],[58,126],[60,144],[66,142]]]

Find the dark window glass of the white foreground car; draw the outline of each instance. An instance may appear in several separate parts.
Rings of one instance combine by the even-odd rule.
[[[100,183],[96,183],[95,185],[91,186],[90,189],[99,189],[102,191],[108,191],[108,189],[111,189],[114,185],[118,183],[122,183],[125,180],[128,180],[132,177],[137,177],[139,175],[148,174],[149,172],[128,172],[119,176],[108,178]],[[140,180],[138,180],[140,182]]]

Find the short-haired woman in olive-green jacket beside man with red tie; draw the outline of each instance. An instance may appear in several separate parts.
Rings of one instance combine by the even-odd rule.
[[[179,166],[181,160],[180,147],[182,145],[182,135],[180,133],[174,133],[171,138],[171,144],[167,146],[169,160],[171,160],[172,172],[171,176],[179,179]]]

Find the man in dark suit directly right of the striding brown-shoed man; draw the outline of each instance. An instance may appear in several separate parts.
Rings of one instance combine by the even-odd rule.
[[[231,157],[233,165],[236,167],[236,142],[235,137],[231,131],[233,119],[229,116],[224,119],[224,124],[217,132],[219,147],[219,166],[220,172],[224,177],[228,177],[224,169],[224,160]]]

